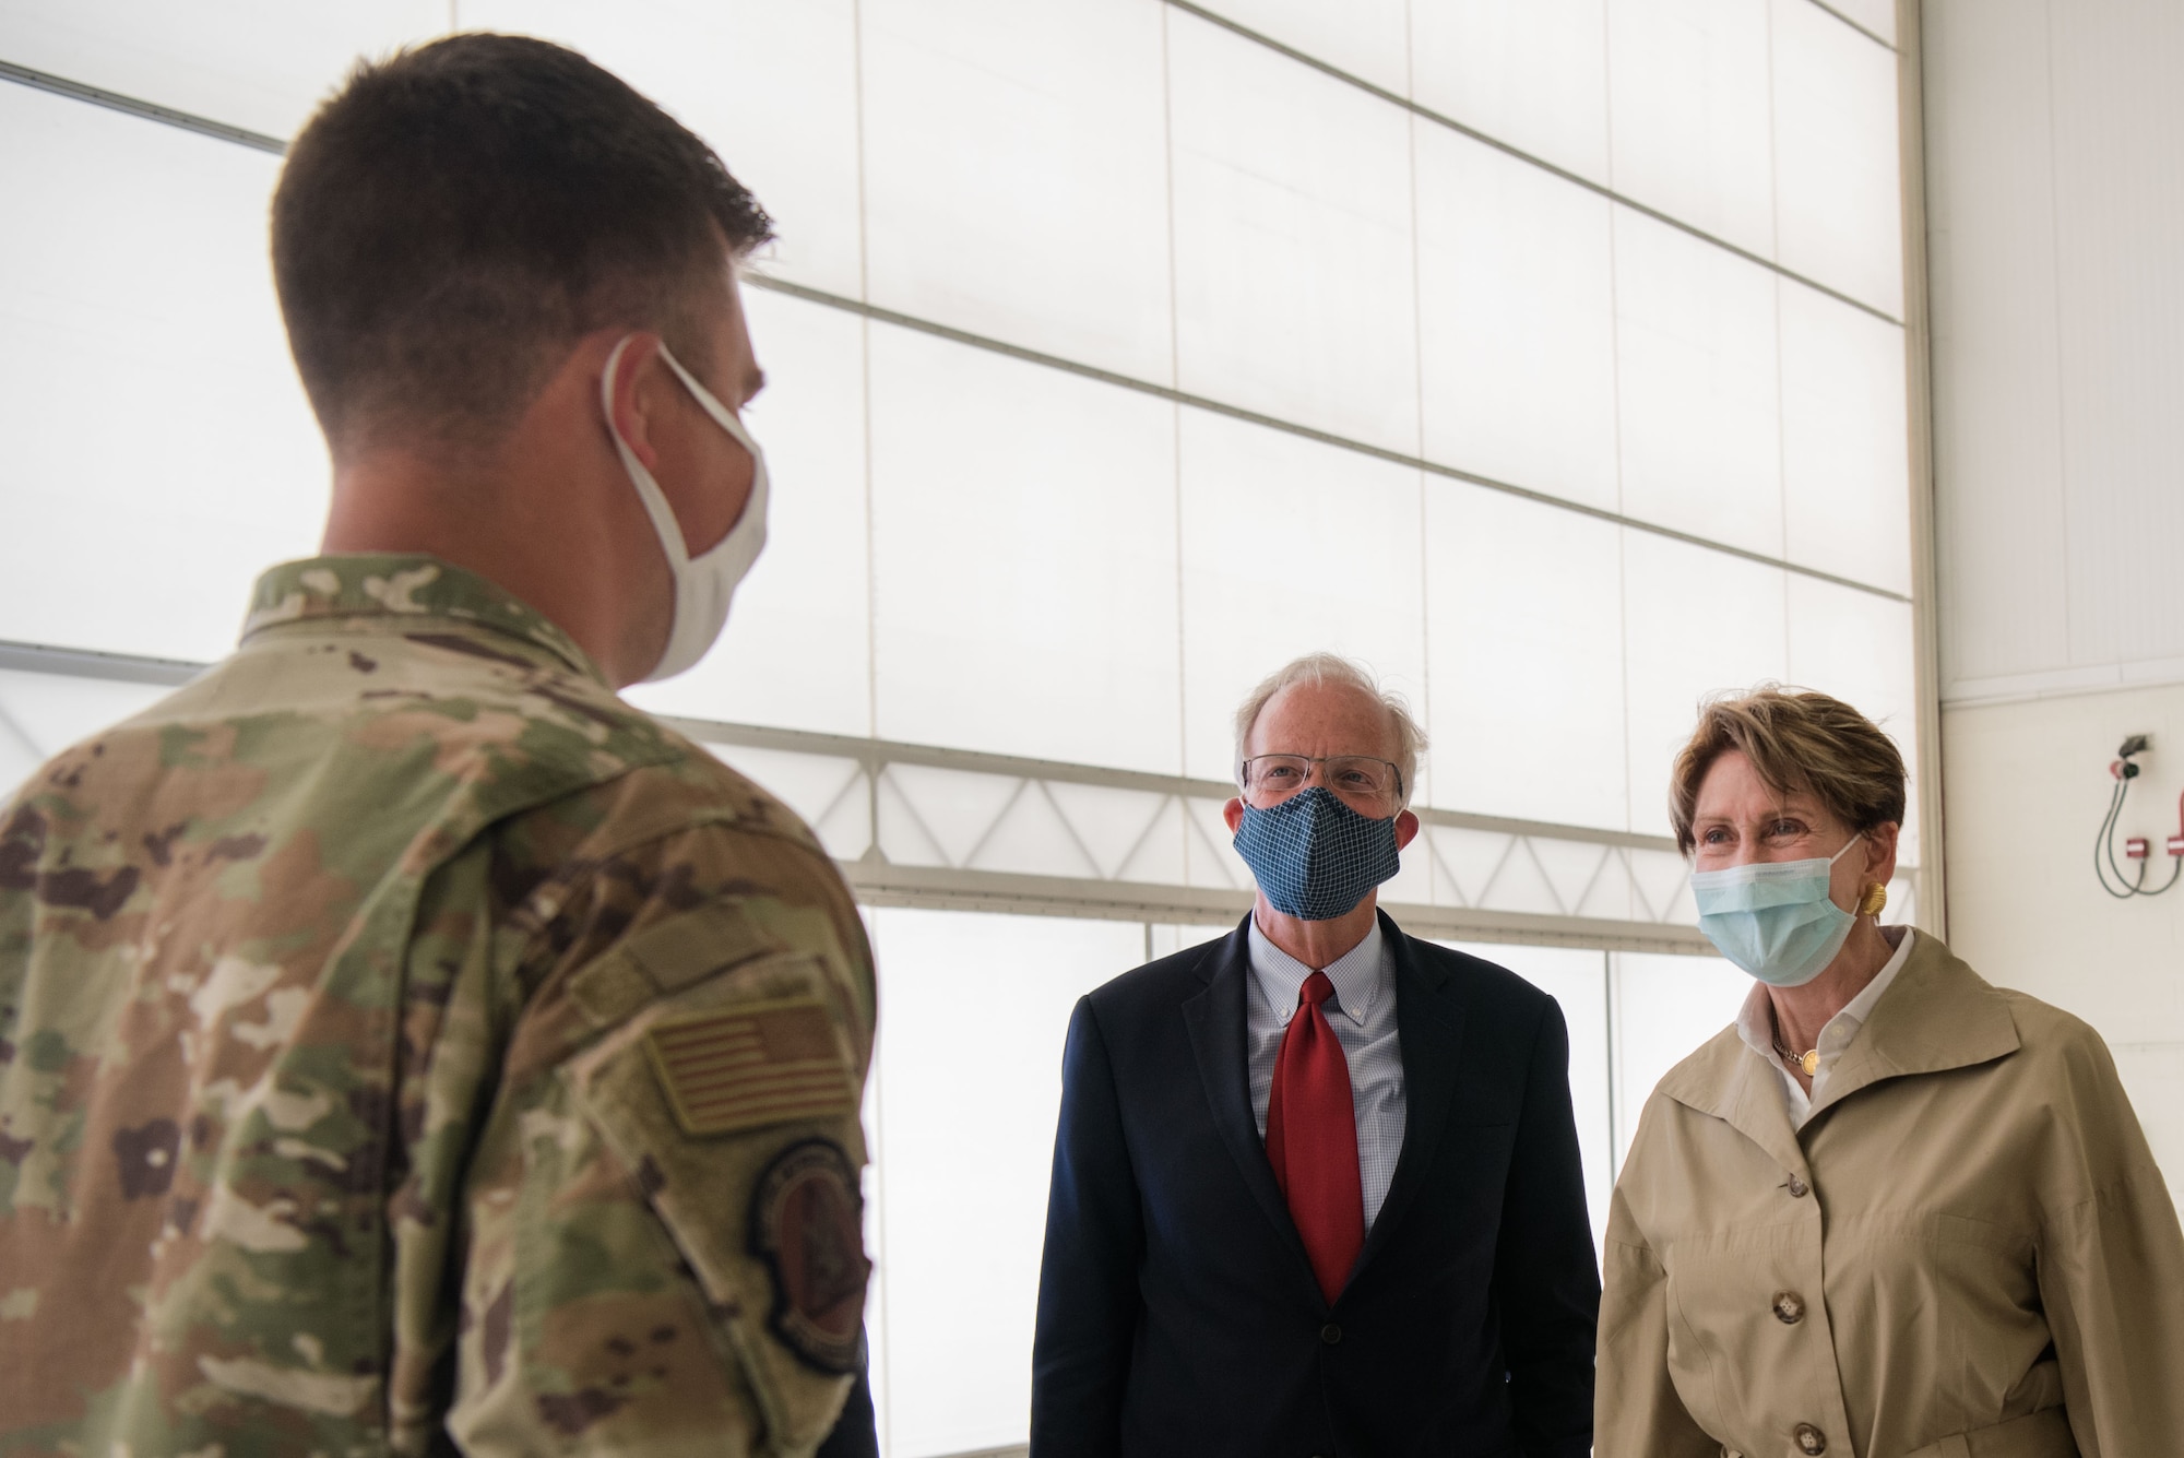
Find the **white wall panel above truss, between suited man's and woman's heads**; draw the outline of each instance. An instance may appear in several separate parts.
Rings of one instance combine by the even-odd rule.
[[[1621,528],[1426,480],[1433,801],[1623,829]]]

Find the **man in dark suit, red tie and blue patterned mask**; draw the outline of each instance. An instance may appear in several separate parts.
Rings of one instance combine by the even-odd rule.
[[[1077,1004],[1033,1458],[1583,1458],[1599,1270],[1553,997],[1404,936],[1422,736],[1315,655],[1238,712],[1230,936]]]

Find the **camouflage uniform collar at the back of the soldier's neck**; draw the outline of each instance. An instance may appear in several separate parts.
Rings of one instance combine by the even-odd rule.
[[[293,622],[411,618],[456,622],[544,653],[542,668],[568,668],[607,683],[598,664],[535,607],[476,572],[422,552],[358,552],[286,561],[258,578],[242,642]],[[404,624],[406,629],[408,624]]]

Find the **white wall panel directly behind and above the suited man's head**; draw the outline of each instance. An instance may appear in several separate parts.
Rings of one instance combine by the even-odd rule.
[[[1424,705],[1415,469],[1203,410],[1182,410],[1182,467],[1186,775],[1236,777],[1236,705],[1304,653]]]

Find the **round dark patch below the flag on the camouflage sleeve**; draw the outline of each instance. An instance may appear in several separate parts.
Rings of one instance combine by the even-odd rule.
[[[751,1255],[773,1270],[769,1325],[823,1373],[854,1373],[865,1338],[865,1200],[832,1139],[791,1144],[751,1194]]]

